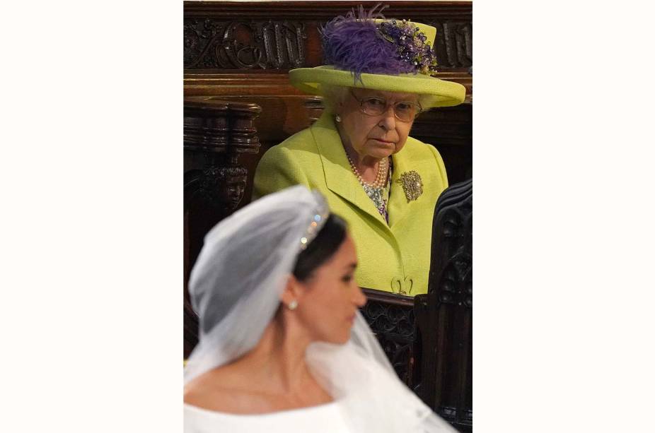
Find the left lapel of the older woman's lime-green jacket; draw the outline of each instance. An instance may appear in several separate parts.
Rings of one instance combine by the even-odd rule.
[[[328,185],[328,189],[371,215],[388,230],[387,222],[352,174],[332,115],[327,111],[323,112],[320,119],[311,126],[311,131],[323,162],[325,184]]]

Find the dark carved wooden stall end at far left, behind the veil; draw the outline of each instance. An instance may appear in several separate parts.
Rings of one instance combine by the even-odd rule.
[[[253,173],[240,165],[260,143],[254,104],[187,98],[184,109],[184,356],[197,344],[198,318],[187,283],[204,235],[243,206]],[[250,196],[248,195],[248,198]],[[246,200],[246,201],[249,201]]]

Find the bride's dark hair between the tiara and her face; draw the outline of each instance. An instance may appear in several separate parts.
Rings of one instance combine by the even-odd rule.
[[[318,235],[298,254],[294,277],[305,281],[316,268],[328,261],[346,239],[346,227],[346,222],[340,216],[330,213]]]

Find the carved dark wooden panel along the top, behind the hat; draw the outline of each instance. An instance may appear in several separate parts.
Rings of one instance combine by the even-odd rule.
[[[185,70],[286,72],[323,64],[318,29],[352,8],[377,1],[228,2],[185,1]],[[473,63],[470,2],[387,1],[388,18],[433,25],[439,71],[467,70]]]

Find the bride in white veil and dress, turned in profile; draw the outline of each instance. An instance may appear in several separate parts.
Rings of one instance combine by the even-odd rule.
[[[200,339],[185,432],[454,432],[359,314],[357,264],[344,221],[304,186],[216,225],[189,284]]]

